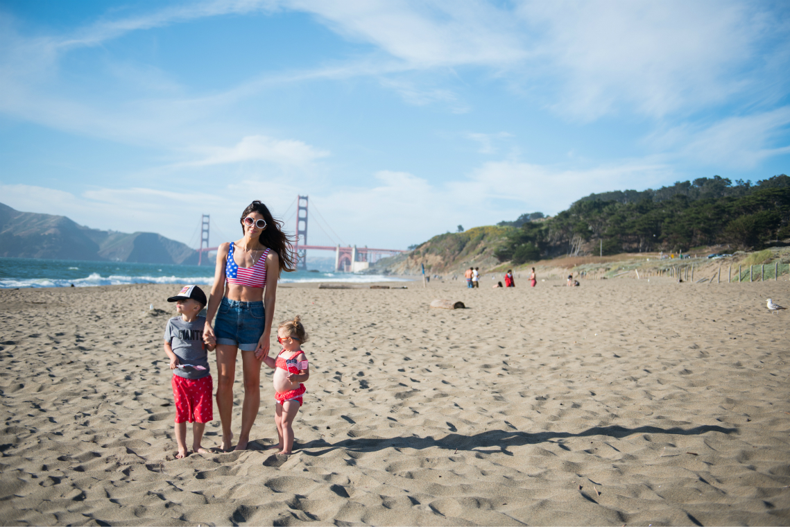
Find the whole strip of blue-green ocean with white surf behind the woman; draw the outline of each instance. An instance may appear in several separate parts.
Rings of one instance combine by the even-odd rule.
[[[40,258],[0,258],[0,288],[85,288],[120,284],[199,284],[210,286],[213,265],[164,265],[130,262],[84,262]],[[283,273],[280,284],[295,282],[383,282],[405,278],[374,274]]]

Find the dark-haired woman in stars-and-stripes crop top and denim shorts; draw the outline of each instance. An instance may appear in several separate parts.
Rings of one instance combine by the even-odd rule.
[[[290,239],[266,205],[253,201],[244,209],[240,222],[243,238],[223,243],[217,250],[203,330],[207,341],[216,339],[216,406],[222,421],[221,448],[226,452],[233,440],[237,352],[242,351],[244,403],[242,431],[235,450],[246,450],[261,405],[261,362],[269,356],[277,279],[283,269],[295,270]]]

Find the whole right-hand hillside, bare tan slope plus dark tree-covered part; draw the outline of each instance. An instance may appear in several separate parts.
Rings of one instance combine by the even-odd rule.
[[[658,190],[591,194],[555,216],[523,214],[497,227],[434,236],[410,253],[386,258],[374,272],[457,273],[561,256],[760,250],[790,239],[790,177],[751,182],[714,176]]]

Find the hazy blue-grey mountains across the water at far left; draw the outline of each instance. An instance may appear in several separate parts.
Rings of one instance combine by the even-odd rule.
[[[23,213],[0,203],[0,257],[198,263],[195,250],[152,232],[107,232],[66,216]]]

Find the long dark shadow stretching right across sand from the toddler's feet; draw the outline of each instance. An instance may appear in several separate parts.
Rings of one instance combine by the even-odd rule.
[[[448,423],[450,424],[450,423]],[[452,425],[450,425],[452,426]],[[661,427],[636,427],[626,428],[619,426],[611,427],[592,427],[577,434],[570,432],[537,432],[528,434],[520,431],[491,430],[481,432],[476,435],[449,434],[442,439],[432,437],[398,437],[392,439],[366,439],[349,438],[336,443],[329,443],[323,439],[299,444],[299,450],[321,449],[308,452],[303,450],[303,454],[308,456],[320,456],[331,450],[344,449],[353,452],[375,452],[386,448],[413,448],[422,450],[438,446],[449,450],[472,450],[475,448],[498,448],[502,454],[513,455],[507,449],[509,446],[536,445],[542,442],[551,442],[555,439],[570,439],[589,437],[593,435],[604,435],[615,439],[622,439],[634,434],[668,434],[668,435],[702,435],[706,432],[721,432],[722,434],[732,434],[737,432],[737,428],[725,428],[711,425],[704,425],[693,428],[661,428]],[[324,447],[324,448],[322,448]]]

